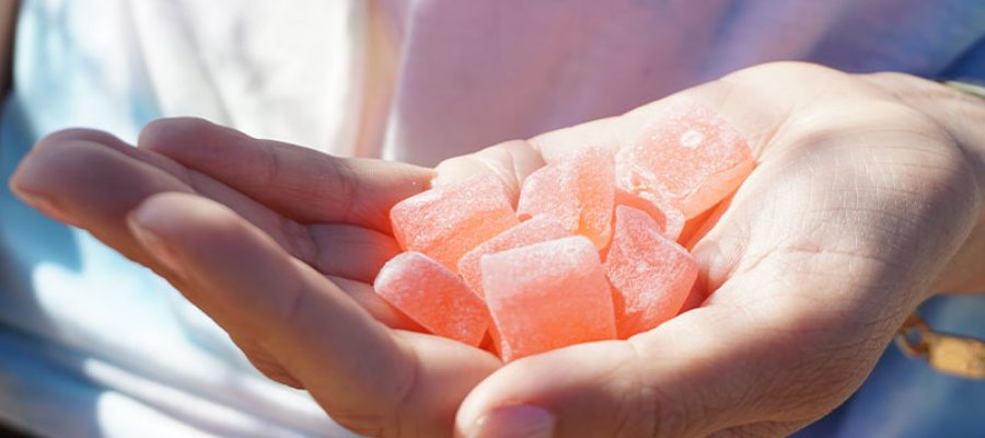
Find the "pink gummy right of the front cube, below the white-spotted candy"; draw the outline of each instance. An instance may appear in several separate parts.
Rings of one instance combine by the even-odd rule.
[[[627,338],[676,315],[698,268],[687,250],[665,238],[649,215],[618,206],[605,270],[617,292],[618,335]]]

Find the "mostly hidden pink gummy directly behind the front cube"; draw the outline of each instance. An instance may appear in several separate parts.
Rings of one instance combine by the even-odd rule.
[[[521,222],[519,226],[489,239],[462,256],[462,260],[459,261],[459,274],[462,275],[462,278],[465,279],[465,284],[468,285],[476,295],[484,297],[483,270],[479,266],[479,261],[484,255],[495,254],[548,240],[567,238],[569,235],[571,235],[571,233],[565,230],[557,219],[547,215],[535,216],[533,219]]]

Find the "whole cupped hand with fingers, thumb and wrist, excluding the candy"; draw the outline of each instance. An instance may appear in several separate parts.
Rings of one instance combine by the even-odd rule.
[[[681,99],[719,111],[758,162],[692,242],[712,291],[698,309],[503,366],[373,299],[398,251],[395,201],[477,172],[515,196],[545,162],[624,143]],[[167,278],[260,371],[358,433],[510,436],[519,422],[557,437],[785,436],[851,394],[922,301],[985,290],[983,106],[902,74],[773,64],[437,173],[171,119],[136,149],[55,134],[11,187]]]

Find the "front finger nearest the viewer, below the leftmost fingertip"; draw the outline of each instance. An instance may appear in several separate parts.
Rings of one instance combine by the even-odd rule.
[[[413,384],[415,365],[382,324],[229,209],[162,194],[129,223],[192,286],[183,292],[193,303],[232,336],[264,345],[310,390],[334,394],[323,401],[329,413],[375,412],[376,401],[398,400]]]

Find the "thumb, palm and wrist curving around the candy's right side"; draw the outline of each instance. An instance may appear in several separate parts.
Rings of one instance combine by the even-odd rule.
[[[489,172],[515,188],[535,158],[625,145],[676,100],[720,111],[758,161],[693,243],[714,292],[628,342],[505,366],[466,397],[459,433],[787,436],[851,394],[930,293],[985,290],[985,105],[903,74],[756,67],[450,160],[438,181]]]

